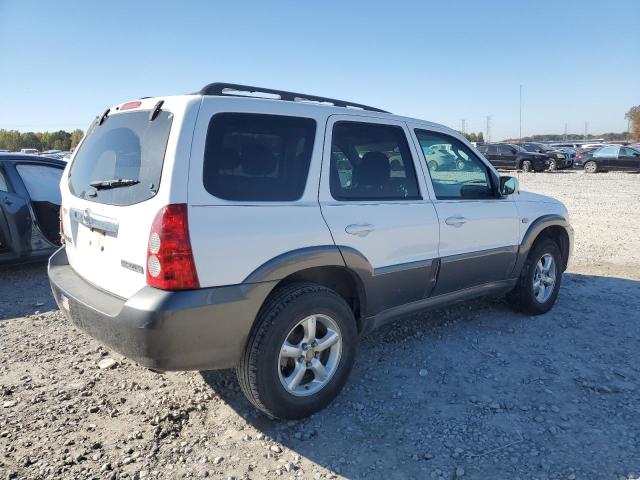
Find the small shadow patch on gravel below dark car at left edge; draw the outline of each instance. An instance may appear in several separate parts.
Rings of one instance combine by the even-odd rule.
[[[51,295],[46,260],[0,267],[0,321],[57,308]]]

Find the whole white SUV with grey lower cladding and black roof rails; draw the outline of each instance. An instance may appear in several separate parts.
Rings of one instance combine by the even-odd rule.
[[[450,168],[429,170],[434,146]],[[61,189],[49,278],[71,321],[151,369],[236,367],[281,418],[326,406],[399,314],[485,294],[548,311],[572,248],[565,207],[458,132],[241,85],[105,111]]]

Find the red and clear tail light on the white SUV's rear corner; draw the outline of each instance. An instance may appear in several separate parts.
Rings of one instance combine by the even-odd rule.
[[[167,205],[156,215],[147,248],[147,284],[162,290],[200,287],[193,260],[187,206]]]

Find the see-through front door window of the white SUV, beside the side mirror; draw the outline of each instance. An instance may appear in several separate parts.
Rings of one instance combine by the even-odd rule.
[[[494,197],[487,166],[466,145],[437,132],[416,130],[424,152],[436,198],[479,199]],[[446,158],[434,155],[446,152]]]

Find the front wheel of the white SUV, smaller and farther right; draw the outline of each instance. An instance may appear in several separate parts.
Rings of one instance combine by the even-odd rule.
[[[516,287],[507,294],[509,304],[518,311],[541,315],[556,303],[562,280],[562,254],[549,238],[538,241],[522,267]]]

